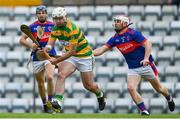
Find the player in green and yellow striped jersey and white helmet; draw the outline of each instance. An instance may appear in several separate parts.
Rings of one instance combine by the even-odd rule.
[[[55,86],[55,101],[52,102],[53,109],[62,109],[65,80],[76,70],[80,72],[83,86],[97,96],[99,109],[105,108],[104,93],[98,85],[93,82],[94,56],[92,49],[82,33],[79,26],[67,18],[63,7],[57,7],[52,12],[54,28],[48,41],[48,51],[59,40],[66,52],[59,58],[51,59],[51,63],[59,63],[59,78]]]

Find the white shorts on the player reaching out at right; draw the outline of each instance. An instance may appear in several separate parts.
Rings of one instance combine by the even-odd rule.
[[[155,79],[158,75],[158,71],[154,63],[148,66],[142,66],[135,69],[129,69],[128,75],[139,75],[144,79]]]

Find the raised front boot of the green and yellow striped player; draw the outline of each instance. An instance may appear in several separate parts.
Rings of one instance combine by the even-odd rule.
[[[57,99],[53,99],[51,102],[47,102],[47,106],[56,113],[62,111],[62,104],[59,104]]]

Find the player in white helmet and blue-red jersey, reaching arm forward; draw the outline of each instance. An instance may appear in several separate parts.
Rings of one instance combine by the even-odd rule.
[[[124,15],[115,16],[113,26],[116,34],[107,43],[94,50],[94,56],[116,47],[124,56],[128,64],[127,86],[128,91],[141,111],[142,115],[149,115],[142,97],[137,92],[141,78],[148,80],[154,89],[161,93],[168,102],[170,111],[174,111],[175,104],[168,89],[160,83],[158,71],[151,55],[151,43],[139,31],[129,28],[130,19]]]

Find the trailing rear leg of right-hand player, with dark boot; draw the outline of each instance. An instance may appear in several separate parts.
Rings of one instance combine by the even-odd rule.
[[[148,81],[158,93],[161,93],[166,98],[169,110],[174,111],[175,103],[173,101],[173,97],[169,94],[167,87],[160,83],[158,76],[156,76],[155,79],[149,79]]]

